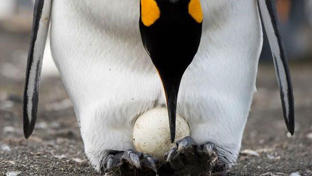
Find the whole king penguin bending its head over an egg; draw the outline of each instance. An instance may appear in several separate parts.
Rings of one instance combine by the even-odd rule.
[[[131,134],[137,116],[159,106],[168,108],[172,141],[176,113],[190,127],[190,136],[164,156],[170,173],[206,173],[212,153],[218,162],[209,173],[230,168],[256,91],[261,18],[284,120],[293,134],[292,86],[274,0],[36,0],[24,91],[25,137],[37,119],[50,31],[52,56],[96,170],[158,171],[158,158],[135,151]]]

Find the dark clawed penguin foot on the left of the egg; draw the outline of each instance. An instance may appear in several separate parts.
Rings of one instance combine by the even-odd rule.
[[[102,160],[101,173],[105,175],[156,175],[159,160],[132,149],[107,151]]]

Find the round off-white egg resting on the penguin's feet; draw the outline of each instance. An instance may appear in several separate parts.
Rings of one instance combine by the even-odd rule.
[[[176,121],[176,138],[180,140],[190,135],[187,122],[179,114]],[[166,107],[157,107],[141,114],[133,126],[133,144],[137,151],[164,161],[164,154],[175,146],[171,143],[169,118]]]

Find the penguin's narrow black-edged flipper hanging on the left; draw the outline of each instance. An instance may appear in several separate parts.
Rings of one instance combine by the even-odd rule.
[[[49,30],[51,4],[52,0],[36,0],[35,2],[23,100],[26,139],[32,134],[37,119],[42,58]]]

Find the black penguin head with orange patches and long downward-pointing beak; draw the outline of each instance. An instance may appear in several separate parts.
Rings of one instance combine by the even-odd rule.
[[[202,21],[200,0],[140,0],[141,38],[163,82],[172,142],[179,86],[197,52]]]

